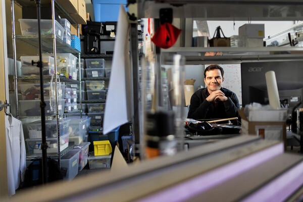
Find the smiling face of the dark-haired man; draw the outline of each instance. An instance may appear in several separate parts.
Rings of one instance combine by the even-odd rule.
[[[204,82],[209,91],[212,92],[219,90],[223,81],[224,77],[222,77],[221,71],[219,69],[214,69],[206,72],[206,78],[204,79]]]

